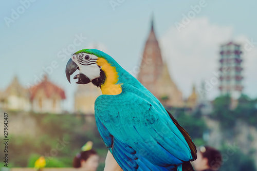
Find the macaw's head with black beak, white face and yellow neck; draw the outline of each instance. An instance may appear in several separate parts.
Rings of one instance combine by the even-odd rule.
[[[100,87],[103,94],[118,94],[121,92],[116,68],[119,64],[106,53],[97,49],[83,49],[71,55],[66,65],[66,77],[70,82],[70,75],[77,69],[79,74],[77,84],[93,83]]]

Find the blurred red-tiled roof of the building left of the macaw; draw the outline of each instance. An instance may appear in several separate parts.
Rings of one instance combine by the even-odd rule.
[[[35,94],[41,89],[43,89],[47,98],[50,98],[53,94],[58,94],[61,99],[66,99],[64,90],[49,82],[47,77],[38,85],[30,87],[30,99],[33,100]]]

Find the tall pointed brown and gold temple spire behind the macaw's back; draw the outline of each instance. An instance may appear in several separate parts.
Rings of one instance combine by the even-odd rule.
[[[145,42],[143,58],[137,79],[146,89],[152,92],[155,97],[162,100],[165,106],[182,107],[182,93],[170,77],[167,62],[163,63],[162,61],[159,43],[154,33],[153,14],[150,22],[151,30]]]

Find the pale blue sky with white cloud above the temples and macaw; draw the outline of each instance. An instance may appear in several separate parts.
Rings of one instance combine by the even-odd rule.
[[[174,23],[181,22],[182,14],[187,15],[188,12],[192,11],[191,6],[198,5],[200,1],[115,0],[115,2],[120,2],[115,10],[113,10],[110,2],[109,0],[90,2],[37,0],[33,3],[30,2],[25,12],[20,14],[13,23],[10,23],[9,27],[5,22],[5,17],[11,18],[12,9],[17,11],[17,8],[22,4],[20,1],[2,2],[0,7],[0,37],[2,42],[0,46],[2,59],[0,89],[4,90],[10,84],[14,75],[18,76],[25,87],[33,85],[35,78],[40,77],[44,72],[43,67],[47,68],[51,66],[53,61],[56,61],[58,67],[52,69],[49,78],[53,83],[65,89],[67,96],[65,107],[71,110],[76,85],[75,82],[69,84],[66,80],[65,66],[70,57],[65,54],[66,59],[64,61],[62,61],[63,58],[59,58],[60,54],[64,54],[63,48],[72,47],[76,35],[82,35],[86,39],[79,46],[76,46],[74,51],[68,53],[71,54],[94,43],[100,43],[106,49],[106,52],[122,67],[126,70],[132,70],[134,66],[140,63],[153,12],[158,39],[160,41],[165,39],[176,40],[180,43],[179,51],[178,48],[174,50],[174,52],[177,50],[176,54],[172,55],[171,53],[171,56],[168,53],[163,52],[163,54],[170,64],[171,76],[185,98],[190,94],[193,83],[199,85],[200,80],[208,80],[212,77],[212,71],[202,70],[202,65],[199,65],[200,62],[191,64],[191,70],[199,71],[196,73],[198,77],[194,78],[190,75],[190,68],[184,69],[185,73],[182,76],[181,72],[176,70],[176,68],[183,67],[184,64],[176,60],[185,61],[183,54],[190,55],[193,53],[192,48],[188,47],[196,45],[197,48],[201,47],[211,42],[213,39],[211,36],[215,38],[217,37],[215,34],[222,35],[227,31],[228,37],[225,36],[226,39],[213,41],[215,44],[210,43],[211,46],[216,45],[213,51],[210,50],[200,54],[202,55],[201,58],[204,59],[206,55],[211,53],[210,56],[215,56],[213,59],[216,60],[216,58],[218,59],[219,43],[229,40],[242,40],[244,42],[245,39],[252,39],[257,42],[256,1],[207,0],[205,1],[206,6],[201,8],[201,11],[195,15],[191,23],[181,29],[184,34],[174,29]],[[199,26],[200,23],[203,24],[203,27]],[[208,39],[205,34],[201,34],[206,31],[201,30],[201,28],[213,29],[214,33]],[[173,32],[169,34],[171,30]],[[183,35],[183,41],[181,41],[181,36],[175,37],[176,35]],[[189,35],[188,39],[190,40],[187,40],[187,35]],[[205,39],[199,39],[201,35],[206,36]],[[196,43],[196,45],[187,44],[187,42],[194,41],[200,43]],[[160,42],[160,44],[166,44],[161,48],[169,48],[169,43],[165,41]],[[255,88],[257,81],[253,77],[253,74],[256,75],[257,71],[253,69],[253,66],[250,66],[250,63],[257,62],[255,60],[255,50],[256,47],[254,46],[253,50],[249,52],[251,61],[246,62],[245,67],[251,69],[246,70],[244,75],[246,78],[244,91],[252,98],[257,97]],[[176,56],[176,58],[173,58],[173,56]],[[197,61],[197,54],[192,56]],[[205,62],[208,62],[208,60],[205,60]],[[216,63],[213,64],[213,71],[217,67]],[[217,87],[214,87],[209,98],[213,99],[217,93]]]

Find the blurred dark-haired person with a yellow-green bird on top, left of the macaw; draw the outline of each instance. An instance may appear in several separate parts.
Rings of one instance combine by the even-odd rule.
[[[92,148],[93,142],[88,141],[82,148],[81,152],[73,160],[73,167],[79,170],[96,171],[99,165],[99,156]]]

